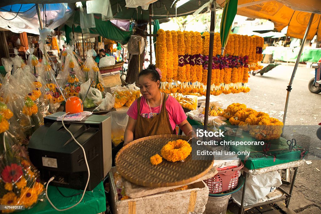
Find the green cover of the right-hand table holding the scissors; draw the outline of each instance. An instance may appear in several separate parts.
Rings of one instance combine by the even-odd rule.
[[[202,123],[200,121],[196,121],[191,119],[190,117],[187,117],[187,121],[192,125],[192,126],[197,126],[198,128],[202,128]],[[225,121],[228,126],[231,127],[229,121]],[[248,131],[243,131],[242,132],[243,138],[238,138],[238,137],[230,137],[230,136],[225,136],[224,140],[226,141],[262,141],[262,140],[256,140],[252,136],[250,136]],[[284,164],[288,163],[291,161],[296,161],[301,159],[301,151],[300,150],[292,150],[291,152],[289,151],[289,146],[286,143],[285,138],[279,138],[275,140],[269,140],[265,141],[271,143],[270,150],[278,150],[278,151],[271,151],[267,152],[269,154],[268,157],[264,156],[263,153],[263,146],[230,146],[230,151],[234,152],[244,152],[250,151],[250,155],[245,159],[245,155],[239,155],[239,158],[242,160],[244,163],[245,167],[248,169],[259,169],[259,168],[264,168],[264,167],[269,167],[269,166],[274,166],[278,164]],[[301,148],[300,146],[295,146],[294,148]],[[271,156],[270,156],[271,154]],[[307,152],[305,153],[307,154]],[[274,156],[273,156],[274,155]],[[275,159],[274,159],[275,157]]]

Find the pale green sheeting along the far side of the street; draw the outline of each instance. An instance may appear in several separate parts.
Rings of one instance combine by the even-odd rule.
[[[273,54],[273,60],[284,62],[295,62],[298,58],[300,48],[285,48],[269,46],[264,50],[264,54]],[[301,54],[300,62],[316,63],[321,58],[321,48],[304,48]]]

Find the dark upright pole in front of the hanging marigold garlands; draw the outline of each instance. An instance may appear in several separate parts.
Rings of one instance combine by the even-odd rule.
[[[209,58],[208,58],[208,69],[207,69],[207,85],[206,85],[204,130],[207,130],[208,110],[209,110],[209,106],[210,106],[210,95],[211,95],[214,29],[215,29],[215,16],[216,16],[216,8],[215,8],[215,6],[216,6],[216,0],[214,0],[212,2],[212,5],[211,5],[210,49],[209,49]]]

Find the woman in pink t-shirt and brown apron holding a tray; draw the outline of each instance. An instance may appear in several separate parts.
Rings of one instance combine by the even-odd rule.
[[[134,139],[160,134],[177,134],[176,125],[188,137],[195,136],[182,106],[175,98],[160,92],[160,72],[154,65],[138,75],[142,97],[129,107],[129,116],[124,135],[124,145]]]

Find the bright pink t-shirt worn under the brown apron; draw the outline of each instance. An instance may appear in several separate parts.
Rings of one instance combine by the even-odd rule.
[[[162,106],[164,105],[162,104]],[[141,116],[144,118],[152,118],[153,116],[159,114],[160,106],[151,107],[151,110],[152,114],[146,102],[146,99],[144,98],[144,96],[142,96],[140,103]],[[177,124],[180,124],[181,122],[187,119],[187,116],[182,106],[177,102],[177,100],[174,97],[170,95],[166,100],[166,111],[168,113],[169,122],[173,130],[175,129]],[[127,114],[129,117],[133,118],[134,120],[137,120],[137,100],[135,100],[134,103],[129,107]]]

